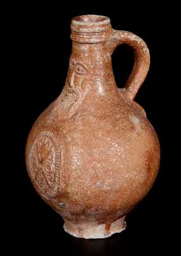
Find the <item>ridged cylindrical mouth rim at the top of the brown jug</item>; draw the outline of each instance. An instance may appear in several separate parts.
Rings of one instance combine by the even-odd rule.
[[[71,20],[71,39],[80,43],[105,41],[112,31],[110,19],[102,15],[81,15]]]

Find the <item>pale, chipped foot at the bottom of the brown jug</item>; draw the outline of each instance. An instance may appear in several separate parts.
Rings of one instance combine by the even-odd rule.
[[[117,221],[113,221],[110,224],[109,230],[106,228],[106,224],[98,225],[96,223],[83,223],[75,224],[70,221],[65,221],[64,230],[71,236],[83,239],[102,239],[112,236],[115,233],[120,233],[126,228],[126,221],[123,216]]]

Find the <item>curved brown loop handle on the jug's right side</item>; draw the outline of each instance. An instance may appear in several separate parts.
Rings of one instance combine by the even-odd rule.
[[[120,89],[121,93],[131,103],[148,74],[150,53],[147,45],[139,36],[131,32],[113,29],[112,36],[108,41],[108,51],[110,51],[110,54],[121,44],[129,45],[134,50],[133,70],[127,79],[125,87]]]

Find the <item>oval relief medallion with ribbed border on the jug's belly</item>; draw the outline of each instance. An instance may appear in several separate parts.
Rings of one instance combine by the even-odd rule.
[[[50,131],[42,131],[31,145],[28,170],[36,189],[46,198],[59,191],[61,173],[61,147]]]

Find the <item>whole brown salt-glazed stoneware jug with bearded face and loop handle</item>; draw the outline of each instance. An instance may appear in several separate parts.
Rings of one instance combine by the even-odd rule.
[[[147,195],[159,169],[156,132],[134,102],[150,55],[141,38],[113,30],[104,16],[73,18],[71,40],[66,83],[31,129],[26,164],[66,232],[104,238],[126,228],[126,214]],[[122,44],[133,48],[134,67],[119,89],[112,52]]]

